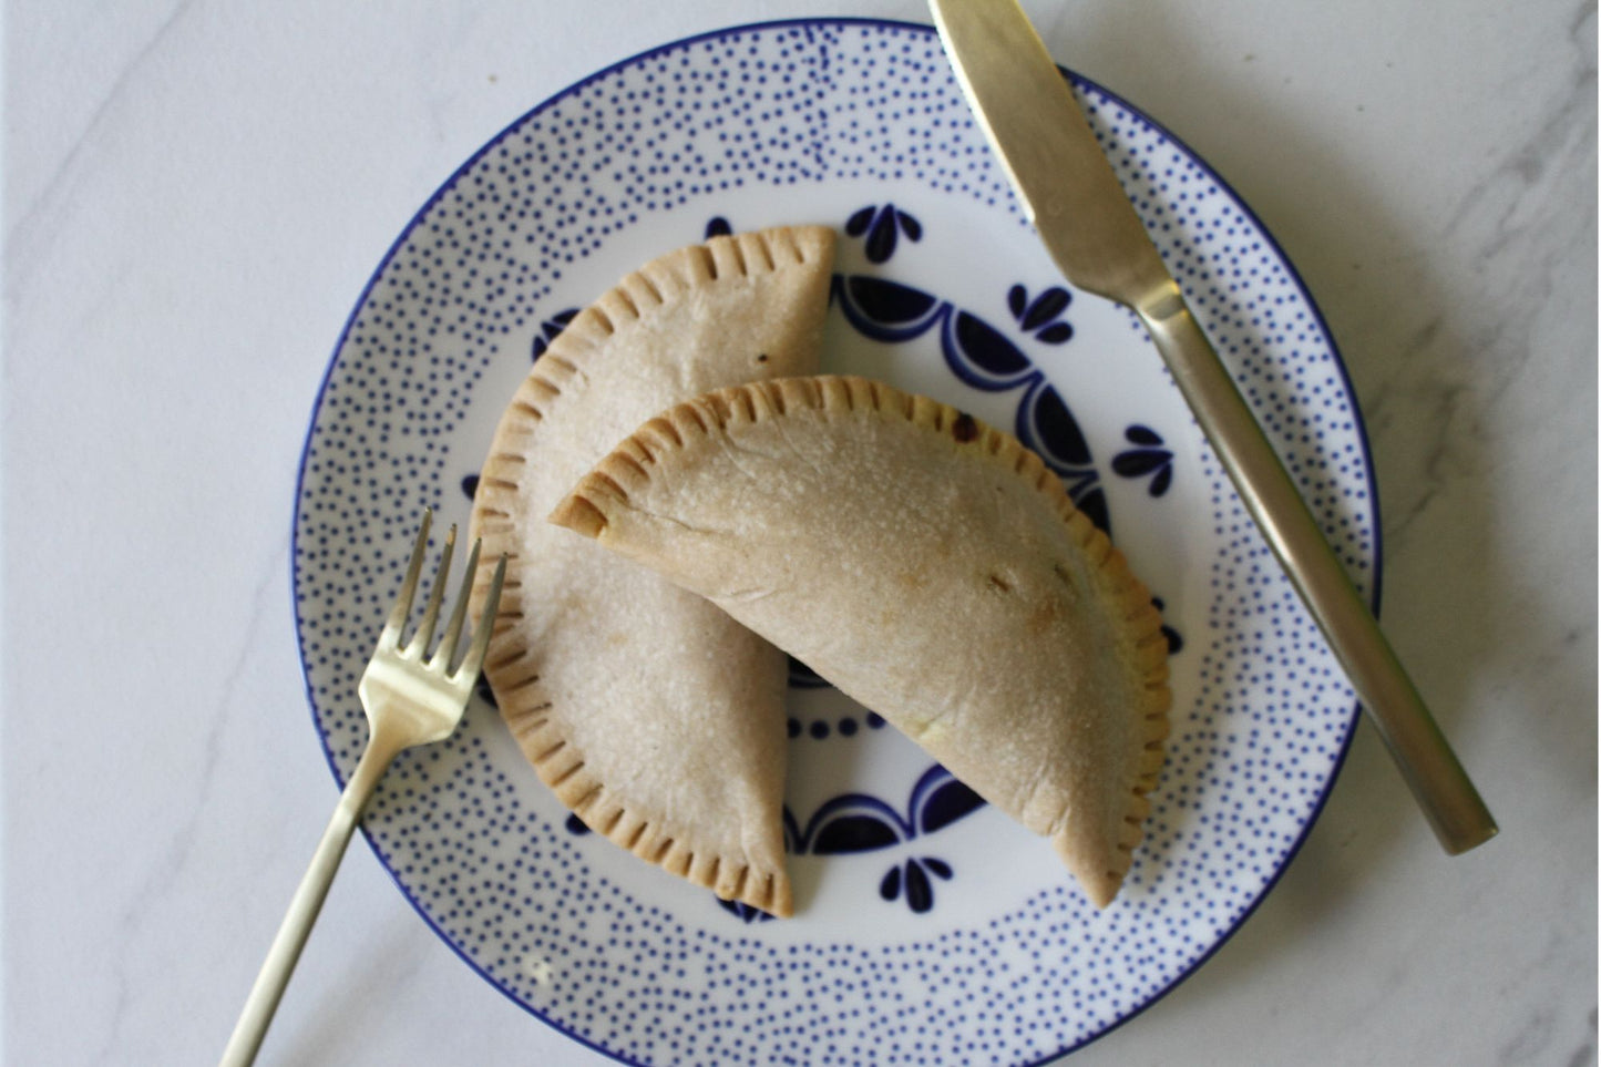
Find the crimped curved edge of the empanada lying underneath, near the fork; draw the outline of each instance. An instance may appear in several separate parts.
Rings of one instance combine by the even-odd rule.
[[[794,913],[789,875],[781,864],[765,868],[746,856],[696,851],[687,844],[687,835],[653,827],[629,811],[588,772],[575,740],[551,719],[551,695],[540,686],[538,676],[516,670],[528,654],[517,622],[522,617],[522,575],[530,562],[519,551],[512,514],[514,501],[522,493],[527,450],[538,436],[540,423],[557,405],[584,391],[589,383],[584,368],[612,333],[684,298],[696,285],[810,266],[831,256],[833,247],[834,231],[826,226],[775,226],[711,237],[624,276],[551,340],[519,385],[492,437],[469,519],[469,538],[482,538],[480,566],[474,577],[474,618],[482,614],[495,561],[506,556],[506,580],[484,674],[501,716],[540,779],[584,825],[629,852],[711,889],[720,899],[740,900],[780,916]]]

